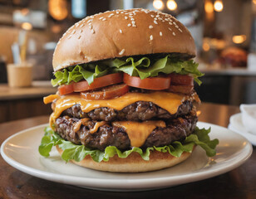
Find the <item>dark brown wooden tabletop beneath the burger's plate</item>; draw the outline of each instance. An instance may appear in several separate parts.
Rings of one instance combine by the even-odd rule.
[[[239,113],[239,108],[219,104],[202,104],[199,121],[227,127],[229,117]],[[0,124],[0,143],[20,130],[45,124],[48,116],[22,119]],[[146,192],[101,192],[70,185],[49,182],[9,166],[0,158],[0,198],[255,198],[256,148],[249,160],[218,177]]]

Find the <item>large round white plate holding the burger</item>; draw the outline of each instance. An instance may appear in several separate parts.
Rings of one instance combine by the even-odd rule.
[[[56,149],[50,158],[37,151],[47,124],[26,129],[2,143],[1,154],[12,167],[35,177],[79,187],[107,191],[139,191],[172,187],[229,172],[244,163],[252,153],[252,145],[241,135],[214,124],[198,123],[199,128],[211,126],[211,138],[219,138],[217,155],[207,158],[201,148],[185,162],[156,172],[99,172],[72,163],[65,163]]]

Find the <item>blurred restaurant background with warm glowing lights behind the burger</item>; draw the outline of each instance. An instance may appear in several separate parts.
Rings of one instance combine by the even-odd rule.
[[[205,74],[195,87],[203,102],[256,103],[256,0],[0,0],[0,122],[51,113],[42,96],[56,90],[52,53],[68,27],[133,7],[170,13],[188,27]],[[30,89],[7,86],[7,65],[19,61],[33,66]]]

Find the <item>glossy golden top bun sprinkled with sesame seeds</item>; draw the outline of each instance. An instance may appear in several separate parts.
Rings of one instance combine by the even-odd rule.
[[[53,54],[54,71],[122,56],[184,53],[195,56],[187,28],[169,14],[117,10],[86,17],[70,27]]]

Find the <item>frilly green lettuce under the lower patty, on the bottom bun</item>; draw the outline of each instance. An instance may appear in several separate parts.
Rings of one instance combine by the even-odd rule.
[[[141,148],[131,148],[130,150],[121,151],[114,146],[109,146],[105,149],[104,152],[100,150],[86,148],[84,145],[77,145],[62,139],[57,133],[55,133],[50,127],[45,129],[45,134],[42,137],[41,145],[38,150],[39,153],[44,157],[49,157],[50,152],[53,146],[58,145],[59,148],[62,148],[62,159],[68,162],[73,159],[76,162],[80,162],[86,155],[90,155],[91,158],[100,163],[101,161],[108,161],[109,158],[114,155],[118,155],[119,158],[127,158],[130,153],[139,153],[141,158],[144,160],[150,159],[150,151],[159,151],[162,153],[170,153],[175,157],[180,157],[184,152],[191,153],[194,145],[199,145],[204,149],[206,154],[209,157],[212,157],[216,154],[215,148],[219,143],[218,139],[210,140],[209,138],[210,129],[199,129],[196,128],[193,134],[190,134],[185,140],[181,143],[175,141],[168,146],[164,147],[151,147],[146,148],[144,151]]]

